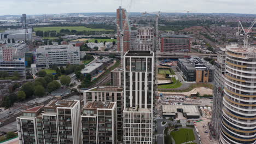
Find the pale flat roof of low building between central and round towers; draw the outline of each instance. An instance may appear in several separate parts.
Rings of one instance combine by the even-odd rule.
[[[162,105],[163,115],[178,113],[178,109],[182,109],[183,113],[187,113],[187,115],[200,115],[195,105]]]

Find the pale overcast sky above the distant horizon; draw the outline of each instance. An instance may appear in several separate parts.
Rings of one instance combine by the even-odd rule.
[[[0,0],[0,15],[115,12],[120,0]],[[129,12],[256,14],[256,0],[123,0]]]

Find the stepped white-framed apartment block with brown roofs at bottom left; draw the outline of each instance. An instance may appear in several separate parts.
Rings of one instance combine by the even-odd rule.
[[[51,100],[17,118],[20,143],[82,143],[80,101]]]

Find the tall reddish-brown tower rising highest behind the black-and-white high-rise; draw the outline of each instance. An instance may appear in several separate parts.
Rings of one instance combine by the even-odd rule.
[[[117,24],[120,27],[121,31],[124,31],[124,52],[130,50],[130,24],[127,21],[127,12],[126,9],[119,7],[117,9]],[[117,34],[120,35],[119,29],[117,27]],[[120,37],[117,37],[117,51],[120,51]]]

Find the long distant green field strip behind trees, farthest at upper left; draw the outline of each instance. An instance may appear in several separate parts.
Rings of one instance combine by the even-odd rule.
[[[114,31],[112,29],[104,29],[104,28],[88,28],[83,26],[77,26],[77,27],[34,27],[34,31],[56,31],[60,32],[61,29],[69,29],[76,30],[76,31]]]

